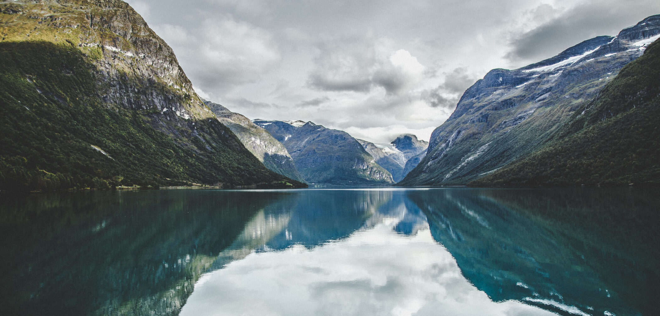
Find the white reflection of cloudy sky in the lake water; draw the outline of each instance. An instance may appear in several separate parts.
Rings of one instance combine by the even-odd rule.
[[[428,229],[376,224],[311,250],[251,253],[195,285],[181,315],[555,315],[492,302]]]

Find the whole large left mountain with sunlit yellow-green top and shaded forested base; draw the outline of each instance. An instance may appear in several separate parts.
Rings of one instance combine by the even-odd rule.
[[[269,171],[118,0],[0,3],[0,190],[304,186]]]

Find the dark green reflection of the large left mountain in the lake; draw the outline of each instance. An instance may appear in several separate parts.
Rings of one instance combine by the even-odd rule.
[[[250,216],[285,195],[88,192],[0,203],[5,315],[177,315]]]

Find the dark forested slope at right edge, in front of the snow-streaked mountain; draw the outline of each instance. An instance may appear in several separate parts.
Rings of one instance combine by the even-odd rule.
[[[473,182],[489,186],[660,184],[660,40],[624,66],[533,154]]]

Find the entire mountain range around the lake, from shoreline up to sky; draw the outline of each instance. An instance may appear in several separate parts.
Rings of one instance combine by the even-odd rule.
[[[201,99],[123,1],[3,1],[0,27],[3,191],[660,184],[660,15],[491,70],[389,144]]]

